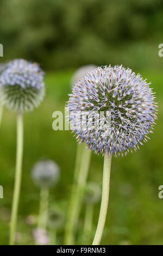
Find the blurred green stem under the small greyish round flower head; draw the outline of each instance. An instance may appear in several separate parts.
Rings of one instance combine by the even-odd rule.
[[[47,187],[42,187],[40,190],[40,209],[38,228],[46,229],[47,217],[48,217],[48,197],[49,190]]]

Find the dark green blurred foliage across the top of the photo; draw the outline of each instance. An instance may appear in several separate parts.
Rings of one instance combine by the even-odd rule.
[[[89,63],[152,68],[151,59],[158,67],[162,10],[161,0],[3,0],[4,57],[51,70]]]

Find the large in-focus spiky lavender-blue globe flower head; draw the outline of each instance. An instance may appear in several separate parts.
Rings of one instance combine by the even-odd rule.
[[[147,141],[156,119],[155,97],[149,84],[122,65],[87,72],[74,84],[67,104],[71,129],[80,143],[85,141],[95,153],[115,156],[139,148],[139,143]],[[79,111],[86,113],[80,129],[83,114],[81,117]]]

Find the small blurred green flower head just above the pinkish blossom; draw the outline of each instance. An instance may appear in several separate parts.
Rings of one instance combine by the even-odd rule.
[[[60,228],[64,222],[63,212],[56,207],[49,209],[48,211],[48,226],[49,228]]]

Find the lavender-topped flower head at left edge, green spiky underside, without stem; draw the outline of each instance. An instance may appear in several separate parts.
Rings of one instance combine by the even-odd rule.
[[[29,112],[45,96],[43,72],[37,63],[15,59],[5,65],[0,76],[0,100],[14,111]]]

